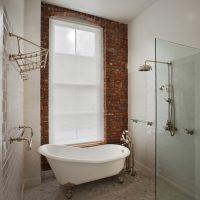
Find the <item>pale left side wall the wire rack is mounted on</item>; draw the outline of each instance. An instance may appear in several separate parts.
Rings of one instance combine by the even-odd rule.
[[[3,0],[0,2],[5,6],[7,10],[8,18],[10,21],[11,32],[23,36],[24,33],[24,0]],[[0,5],[1,6],[1,5]],[[5,35],[5,34],[4,34]],[[2,34],[0,35],[2,39]],[[10,37],[7,37],[6,51],[17,51],[17,43],[10,43]],[[2,54],[0,55],[0,60]],[[6,73],[1,73],[0,82],[4,80],[4,86],[0,87],[1,94],[2,89],[4,96],[1,95],[1,113],[4,110],[4,119],[0,118],[0,148],[4,153],[0,155],[0,199],[1,200],[20,200],[23,188],[24,177],[24,148],[23,143],[9,143],[10,136],[16,137],[19,134],[18,126],[24,124],[24,106],[23,106],[23,81],[16,71],[15,67],[9,62],[8,56],[5,55],[4,59],[7,65],[0,64],[0,71],[2,68],[6,70]],[[2,100],[6,102],[2,107]],[[2,135],[2,123],[5,123],[7,130]],[[2,140],[3,139],[3,140]],[[3,162],[3,163],[2,163]]]

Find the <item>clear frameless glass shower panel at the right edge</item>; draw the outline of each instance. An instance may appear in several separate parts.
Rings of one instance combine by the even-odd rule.
[[[156,199],[200,200],[199,49],[156,39],[156,97]]]

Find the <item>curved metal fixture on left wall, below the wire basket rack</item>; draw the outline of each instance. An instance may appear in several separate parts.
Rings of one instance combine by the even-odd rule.
[[[27,150],[30,151],[31,150],[31,146],[32,146],[32,137],[33,137],[33,129],[29,126],[19,126],[18,128],[19,130],[22,130],[21,134],[19,135],[19,137],[10,137],[10,144],[12,144],[13,142],[21,142],[21,141],[26,141],[27,142]],[[24,137],[24,133],[25,133],[25,130],[26,129],[30,129],[30,134],[31,134],[31,137],[30,139]]]

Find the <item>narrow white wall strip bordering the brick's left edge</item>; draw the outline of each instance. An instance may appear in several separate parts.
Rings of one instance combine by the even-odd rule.
[[[28,40],[40,44],[41,0],[25,0],[24,36]],[[26,51],[33,50],[25,45]],[[25,185],[26,187],[41,183],[41,161],[37,152],[40,146],[40,71],[28,73],[29,80],[24,82],[24,121],[33,128],[32,150],[25,153]]]

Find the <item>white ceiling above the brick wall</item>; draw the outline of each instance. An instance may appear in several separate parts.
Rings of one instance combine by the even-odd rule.
[[[156,0],[43,0],[76,11],[119,21],[130,22]]]

